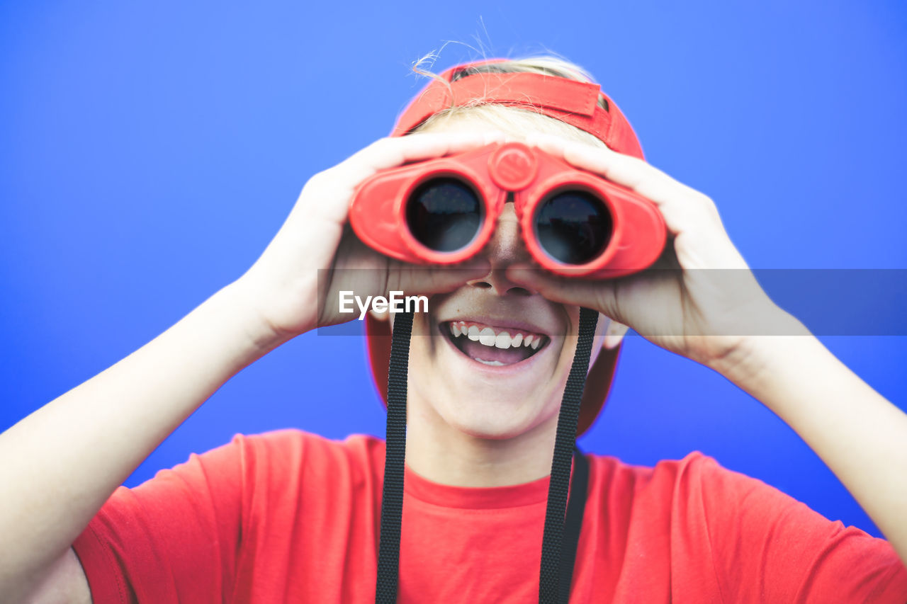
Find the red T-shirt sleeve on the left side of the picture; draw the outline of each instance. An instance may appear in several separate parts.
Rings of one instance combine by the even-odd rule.
[[[73,543],[95,604],[228,601],[241,537],[246,439],[120,487]]]

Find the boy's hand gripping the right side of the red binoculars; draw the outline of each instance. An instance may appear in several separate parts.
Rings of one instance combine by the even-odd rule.
[[[551,300],[599,310],[658,346],[719,371],[746,336],[785,321],[707,196],[616,151],[541,134],[527,142],[653,201],[667,224],[668,243],[654,267],[626,278],[565,278],[526,266],[510,268],[508,278]]]

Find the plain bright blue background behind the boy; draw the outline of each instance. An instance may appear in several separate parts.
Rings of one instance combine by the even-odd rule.
[[[755,268],[907,268],[905,34],[894,1],[4,3],[0,429],[238,278],[308,177],[389,131],[424,84],[409,65],[445,40],[435,71],[546,49],[585,66]],[[823,339],[903,408],[904,337]],[[384,421],[363,339],[308,334],[127,484],[238,432]],[[641,464],[700,450],[879,534],[761,404],[638,336],[581,444]]]

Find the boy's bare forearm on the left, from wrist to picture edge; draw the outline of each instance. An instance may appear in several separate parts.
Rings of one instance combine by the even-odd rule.
[[[25,589],[168,434],[278,346],[244,308],[237,287],[225,287],[0,434],[0,593]]]

